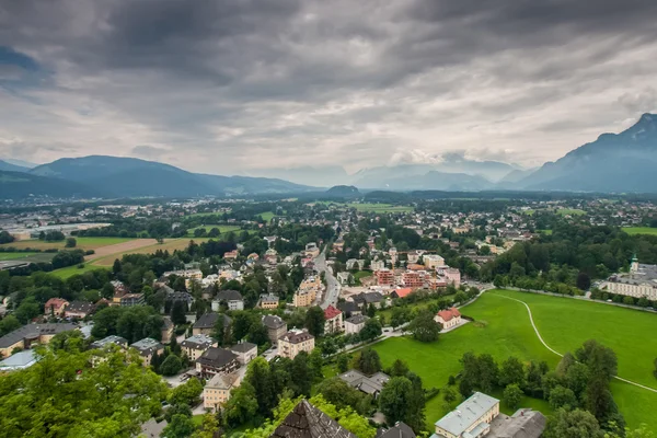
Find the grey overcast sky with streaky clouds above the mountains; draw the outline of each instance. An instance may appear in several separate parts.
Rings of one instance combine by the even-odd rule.
[[[654,0],[3,0],[0,157],[531,166],[657,110]]]

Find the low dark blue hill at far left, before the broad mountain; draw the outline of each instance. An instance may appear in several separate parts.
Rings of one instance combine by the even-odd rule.
[[[2,199],[23,199],[32,196],[91,198],[107,195],[97,187],[90,187],[72,181],[4,171],[0,171],[0,194]]]

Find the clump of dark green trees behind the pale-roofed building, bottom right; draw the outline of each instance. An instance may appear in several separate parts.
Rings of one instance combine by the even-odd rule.
[[[461,359],[463,370],[458,379],[450,377],[446,401],[456,402],[449,388],[458,381],[463,397],[474,391],[503,391],[503,401],[511,408],[519,407],[522,395],[543,399],[555,415],[549,419],[544,436],[566,438],[562,430],[577,418],[583,428],[580,437],[599,437],[600,430],[624,431],[625,420],[613,400],[611,379],[618,370],[614,351],[597,341],[584,343],[575,354],[566,353],[555,370],[546,362],[530,361],[528,366],[509,357],[502,365],[488,354],[466,353]]]

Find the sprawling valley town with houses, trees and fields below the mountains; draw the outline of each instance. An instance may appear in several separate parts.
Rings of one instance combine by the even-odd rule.
[[[9,207],[2,400],[61,367],[119,373],[128,436],[289,436],[300,417],[318,437],[652,427],[656,215],[593,196]]]

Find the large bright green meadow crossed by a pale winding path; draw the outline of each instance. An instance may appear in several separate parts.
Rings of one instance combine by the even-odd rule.
[[[525,361],[545,360],[553,368],[560,357],[546,349],[537,337],[525,306],[508,298],[526,301],[543,339],[560,353],[574,351],[586,339],[596,338],[611,347],[619,359],[619,376],[657,389],[652,374],[657,356],[657,315],[603,303],[548,297],[508,290],[485,292],[462,309],[476,320],[447,333],[434,344],[411,338],[390,338],[374,348],[384,366],[396,358],[408,362],[427,387],[442,388],[450,374],[461,370],[459,359],[469,351],[488,353],[498,361],[517,356]],[[403,354],[400,354],[403,351]],[[612,382],[614,399],[629,426],[645,423],[657,428],[657,393],[618,380]],[[542,401],[525,401],[550,414]],[[542,407],[541,407],[542,405]],[[440,396],[427,404],[427,423],[446,414]]]

